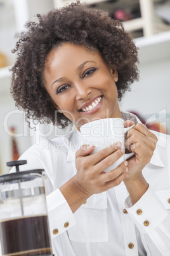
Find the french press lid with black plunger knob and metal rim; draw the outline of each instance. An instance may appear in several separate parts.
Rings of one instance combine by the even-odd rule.
[[[17,161],[6,162],[7,166],[11,166],[11,167],[15,166],[16,172],[0,175],[0,182],[20,180],[23,178],[28,178],[32,173],[42,174],[42,172],[44,171],[44,169],[32,169],[28,171],[20,171],[19,166],[21,166],[22,164],[27,164],[27,160],[17,160]]]

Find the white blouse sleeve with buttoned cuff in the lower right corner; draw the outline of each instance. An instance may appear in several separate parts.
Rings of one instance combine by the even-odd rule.
[[[165,191],[160,200],[156,192],[149,187],[133,206],[130,197],[126,199],[126,209],[140,231],[147,255],[154,255],[153,252],[159,252],[159,255],[164,256],[170,255],[169,192]]]

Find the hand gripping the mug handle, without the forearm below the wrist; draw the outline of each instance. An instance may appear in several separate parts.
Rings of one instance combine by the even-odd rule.
[[[125,127],[134,125],[132,121],[124,122]],[[126,148],[134,153],[134,157],[128,160],[128,174],[125,182],[138,180],[142,169],[150,162],[157,143],[157,137],[143,124],[136,124],[128,131]]]

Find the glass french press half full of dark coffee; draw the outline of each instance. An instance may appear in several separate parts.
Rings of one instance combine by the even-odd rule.
[[[19,171],[27,160],[7,162],[16,172],[0,176],[0,238],[3,256],[53,255],[44,169]]]

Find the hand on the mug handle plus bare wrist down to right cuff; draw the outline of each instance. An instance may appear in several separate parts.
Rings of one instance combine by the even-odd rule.
[[[134,125],[132,121],[124,122],[125,127]],[[147,191],[148,183],[142,175],[143,168],[150,162],[157,143],[157,137],[143,124],[136,124],[128,131],[126,148],[134,153],[128,159],[129,171],[124,179],[132,204],[136,203]]]

